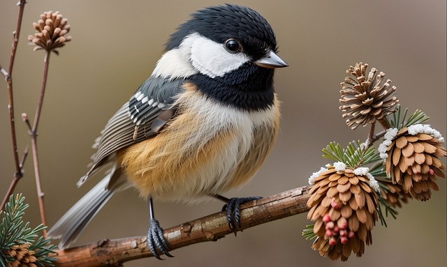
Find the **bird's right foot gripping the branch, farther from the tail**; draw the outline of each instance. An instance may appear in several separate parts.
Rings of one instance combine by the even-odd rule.
[[[220,194],[212,194],[212,197],[219,199],[226,204],[223,206],[222,211],[226,211],[226,220],[228,221],[228,227],[235,231],[240,230],[240,205],[248,201],[261,199],[262,197],[232,197],[230,199],[221,196]]]

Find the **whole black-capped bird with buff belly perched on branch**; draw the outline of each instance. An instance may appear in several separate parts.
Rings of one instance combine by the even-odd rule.
[[[147,246],[173,257],[153,199],[226,201],[230,229],[240,205],[260,197],[223,197],[263,165],[279,130],[272,26],[256,10],[225,4],[191,14],[166,43],[152,75],[106,123],[94,142],[91,176],[105,176],[48,231],[69,247],[115,192],[136,188],[149,203]],[[101,171],[102,170],[102,171]]]

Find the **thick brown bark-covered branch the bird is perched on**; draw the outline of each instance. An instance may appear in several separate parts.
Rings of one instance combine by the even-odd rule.
[[[279,220],[309,211],[309,187],[303,186],[244,204],[241,208],[241,229]],[[170,250],[218,239],[232,234],[226,213],[214,213],[164,230]],[[122,266],[126,261],[152,257],[146,236],[98,241],[89,245],[57,251],[55,266],[96,267]]]

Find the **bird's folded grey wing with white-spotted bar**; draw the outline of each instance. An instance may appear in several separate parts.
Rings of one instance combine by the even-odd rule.
[[[115,160],[115,152],[154,137],[152,123],[163,111],[173,107],[175,96],[182,91],[184,79],[149,77],[115,115],[110,118],[101,136],[95,140],[96,153],[91,156],[91,169],[78,182],[82,185],[98,167]],[[159,122],[157,122],[159,124]],[[159,127],[157,125],[156,127]]]

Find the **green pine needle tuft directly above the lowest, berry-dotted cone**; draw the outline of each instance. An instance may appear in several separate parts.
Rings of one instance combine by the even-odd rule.
[[[347,167],[352,169],[381,159],[373,146],[365,148],[360,143],[360,140],[350,142],[346,148],[341,148],[339,144],[330,142],[326,148],[323,148],[323,157],[335,160],[336,162],[343,162]]]

